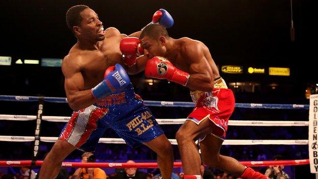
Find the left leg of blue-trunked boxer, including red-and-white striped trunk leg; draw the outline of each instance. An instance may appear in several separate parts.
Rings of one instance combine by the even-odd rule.
[[[99,121],[107,113],[107,108],[97,108],[93,105],[74,112],[59,140],[45,157],[39,179],[55,178],[62,161],[76,148],[79,147],[84,151],[94,150],[98,139],[105,131],[104,125],[101,125]]]

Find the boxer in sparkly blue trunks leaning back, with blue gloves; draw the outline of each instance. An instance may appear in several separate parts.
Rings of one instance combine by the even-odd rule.
[[[143,143],[155,151],[163,178],[171,178],[171,143],[135,94],[124,69],[119,44],[127,35],[115,28],[104,30],[98,15],[84,5],[71,7],[66,22],[77,39],[62,64],[64,88],[74,112],[44,159],[39,178],[55,178],[62,161],[76,148],[93,151],[108,127],[128,145]],[[173,19],[161,9],[152,22],[168,28]]]

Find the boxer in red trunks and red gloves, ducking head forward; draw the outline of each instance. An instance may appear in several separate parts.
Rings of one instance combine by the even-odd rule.
[[[231,157],[220,155],[235,100],[206,45],[186,37],[173,39],[165,28],[150,24],[143,29],[140,39],[123,38],[120,48],[125,63],[130,64],[128,73],[145,70],[148,78],[167,79],[191,90],[196,107],[176,134],[184,179],[201,178],[196,140],[200,141],[202,162],[206,165],[242,178],[267,178]],[[136,58],[142,52],[144,56]]]

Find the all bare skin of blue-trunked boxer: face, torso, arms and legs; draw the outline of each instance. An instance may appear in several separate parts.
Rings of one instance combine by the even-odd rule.
[[[116,63],[123,65],[119,44],[122,38],[127,37],[120,34],[116,28],[103,31],[102,22],[90,8],[83,10],[80,15],[82,17],[80,27],[73,27],[77,42],[62,64],[68,104],[74,111],[87,108],[97,101],[91,94],[91,88],[103,80],[108,67]],[[140,33],[140,31],[133,33],[129,37],[139,37]],[[167,137],[161,135],[143,144],[156,152],[163,178],[170,178],[173,152]],[[55,178],[62,161],[76,148],[64,140],[57,140],[44,159],[39,179]]]

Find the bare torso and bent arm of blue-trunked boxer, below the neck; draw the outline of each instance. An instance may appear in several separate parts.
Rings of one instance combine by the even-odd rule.
[[[83,49],[76,43],[63,60],[65,92],[74,111],[97,101],[89,95],[91,88],[103,80],[105,69],[122,64],[119,43],[123,35],[115,28],[108,28],[104,33],[104,40],[98,41],[92,49]]]

